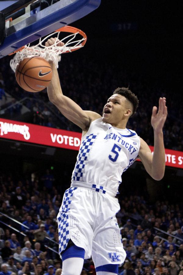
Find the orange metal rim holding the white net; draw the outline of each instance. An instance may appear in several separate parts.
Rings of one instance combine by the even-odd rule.
[[[10,20],[11,21],[11,20]],[[78,34],[82,35],[85,39],[82,41],[82,43],[80,44],[80,46],[84,46],[85,43],[86,43],[86,40],[87,40],[87,36],[86,34],[84,33],[84,31],[81,31],[80,29],[77,29],[75,27],[72,27],[72,26],[64,26],[62,28],[59,28],[58,30],[56,31],[63,31],[63,32],[70,32],[70,33],[76,33],[78,32]],[[79,46],[79,45],[78,45]],[[20,47],[19,49],[13,51],[12,53],[9,53],[9,55],[12,55],[14,53],[17,53],[17,52],[20,52],[21,50],[23,50],[25,48],[25,46],[22,46]],[[70,52],[73,52],[73,51],[76,51],[76,50],[79,50],[78,49],[70,49],[69,51],[66,51],[66,52],[63,52],[63,53],[70,53]]]

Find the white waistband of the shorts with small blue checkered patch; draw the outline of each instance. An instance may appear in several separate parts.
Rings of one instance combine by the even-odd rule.
[[[109,190],[108,188],[101,186],[101,185],[97,185],[97,184],[91,184],[88,182],[78,182],[78,181],[72,181],[71,183],[71,187],[84,187],[87,189],[91,189],[95,192],[99,192],[102,194],[108,194],[112,197],[116,196],[116,192]]]

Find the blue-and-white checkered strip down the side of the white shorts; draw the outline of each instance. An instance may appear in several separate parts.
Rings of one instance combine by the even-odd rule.
[[[66,246],[70,239],[67,212],[70,210],[69,205],[72,201],[73,191],[75,189],[77,189],[77,187],[71,187],[66,190],[64,194],[62,209],[59,211],[60,216],[57,217],[59,227],[59,253],[66,249]]]

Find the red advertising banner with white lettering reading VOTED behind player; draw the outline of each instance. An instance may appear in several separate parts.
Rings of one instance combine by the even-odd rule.
[[[81,133],[0,118],[0,138],[79,150]],[[154,147],[149,146],[153,153]],[[166,165],[183,168],[183,152],[165,149]]]

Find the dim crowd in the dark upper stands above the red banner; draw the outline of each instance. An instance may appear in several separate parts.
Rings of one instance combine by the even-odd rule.
[[[38,125],[56,127],[66,130],[81,131],[80,128],[68,121],[59,110],[48,101],[46,90],[30,93],[22,90],[16,83],[14,72],[9,67],[9,57],[2,59],[0,68],[0,101],[7,92],[15,100],[31,111],[28,122]],[[63,93],[72,98],[84,110],[91,110],[102,114],[103,106],[108,97],[117,87],[125,86],[131,89],[139,98],[138,110],[127,124],[127,128],[135,130],[149,145],[153,145],[153,130],[151,127],[151,113],[154,105],[158,106],[159,97],[167,98],[168,118],[164,126],[165,148],[183,150],[183,110],[182,94],[177,97],[168,87],[154,79],[142,78],[139,73],[126,71],[109,62],[95,62],[87,57],[62,57],[59,64],[59,77]],[[7,74],[9,77],[7,78]],[[9,103],[10,104],[10,103]],[[2,109],[6,106],[1,107]],[[15,118],[21,112],[20,104],[5,111],[5,115]],[[26,122],[26,121],[25,121]]]

